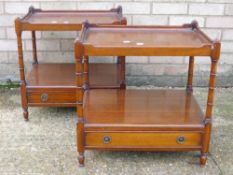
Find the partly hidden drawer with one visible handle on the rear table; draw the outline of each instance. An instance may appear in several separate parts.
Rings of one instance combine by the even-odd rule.
[[[29,104],[74,104],[76,95],[73,91],[29,91]]]

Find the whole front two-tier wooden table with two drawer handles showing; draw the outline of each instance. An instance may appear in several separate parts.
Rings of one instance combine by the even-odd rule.
[[[183,26],[96,26],[85,24],[75,43],[77,149],[201,152],[207,159],[220,43],[196,22]],[[189,56],[185,90],[85,90],[86,56]],[[208,101],[203,113],[192,93],[194,56],[210,56]],[[140,57],[138,57],[140,59]],[[156,58],[155,58],[156,59]],[[175,59],[175,58],[174,58]],[[203,58],[204,59],[204,58]]]

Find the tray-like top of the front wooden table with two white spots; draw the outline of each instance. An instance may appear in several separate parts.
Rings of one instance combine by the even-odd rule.
[[[196,23],[183,26],[85,26],[81,42],[88,55],[191,56],[194,51],[209,55],[213,45]]]

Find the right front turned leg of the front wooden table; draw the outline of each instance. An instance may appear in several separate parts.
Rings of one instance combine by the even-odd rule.
[[[220,56],[220,43],[214,43],[214,49],[211,53],[211,68],[210,68],[210,78],[209,78],[209,90],[208,90],[208,99],[206,105],[206,114],[204,119],[204,134],[203,134],[203,143],[200,156],[200,164],[205,165],[207,160],[207,154],[209,151],[211,128],[212,128],[212,108],[214,101],[214,89],[216,84],[216,71],[217,71],[217,62]]]

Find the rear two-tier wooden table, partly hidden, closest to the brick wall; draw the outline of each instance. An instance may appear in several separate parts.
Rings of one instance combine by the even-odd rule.
[[[18,43],[21,96],[24,118],[28,120],[28,106],[76,106],[75,64],[38,64],[36,31],[80,31],[82,23],[126,25],[122,8],[108,11],[48,11],[29,8],[28,14],[15,20]],[[32,33],[33,66],[25,75],[22,32]],[[75,39],[75,38],[74,38]],[[54,58],[56,60],[56,58]],[[88,62],[88,57],[85,57]],[[88,64],[86,64],[88,65]],[[118,64],[90,64],[86,67],[88,83],[85,88],[125,88],[125,59]]]

